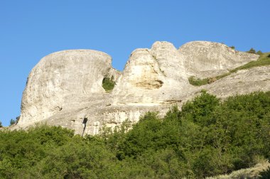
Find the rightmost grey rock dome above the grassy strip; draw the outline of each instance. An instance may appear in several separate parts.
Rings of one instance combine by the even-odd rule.
[[[188,76],[215,77],[257,60],[259,55],[239,52],[222,43],[193,41],[179,48]]]

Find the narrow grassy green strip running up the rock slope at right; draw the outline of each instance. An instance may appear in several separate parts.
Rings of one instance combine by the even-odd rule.
[[[258,51],[259,53],[259,51]],[[220,80],[222,77],[227,77],[228,75],[231,75],[233,72],[237,72],[238,70],[244,70],[244,69],[249,69],[252,67],[259,67],[259,66],[265,66],[265,65],[270,65],[270,53],[263,53],[260,55],[259,59],[256,61],[251,61],[245,65],[242,65],[240,67],[237,67],[233,70],[229,70],[229,72],[219,75],[216,77],[207,77],[204,79],[200,78],[195,78],[195,77],[189,77],[188,81],[190,82],[191,85],[194,86],[202,86],[202,85],[207,85],[212,82],[215,82],[216,80]]]

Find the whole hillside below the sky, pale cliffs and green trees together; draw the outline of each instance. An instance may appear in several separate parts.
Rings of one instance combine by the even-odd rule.
[[[269,178],[269,54],[156,42],[123,72],[96,50],[47,55],[0,130],[0,178]]]

